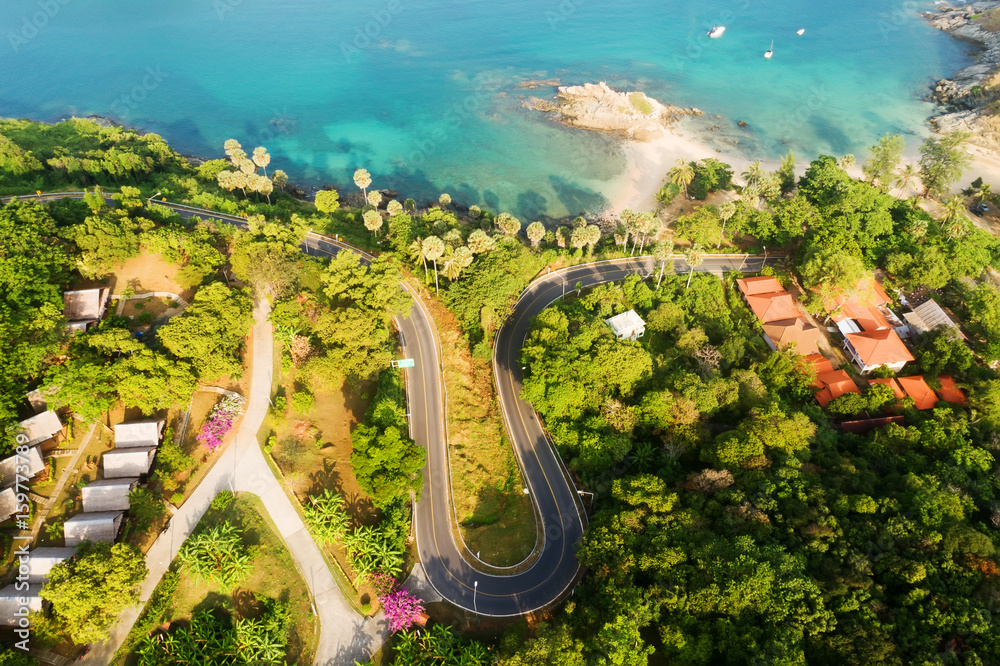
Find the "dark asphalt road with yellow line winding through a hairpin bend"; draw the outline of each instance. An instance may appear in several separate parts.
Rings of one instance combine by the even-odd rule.
[[[60,193],[28,200],[82,196]],[[184,217],[197,215],[227,224],[245,226],[239,217],[193,208],[183,204],[155,202]],[[332,238],[310,233],[302,249],[312,256],[333,256],[347,250],[369,262],[372,256]],[[697,272],[759,271],[765,260],[756,256],[708,255]],[[675,257],[668,267],[686,273],[690,266]],[[541,552],[526,571],[494,576],[474,569],[462,556],[451,531],[451,478],[445,425],[446,392],[441,374],[440,343],[433,319],[420,295],[403,285],[414,297],[410,312],[398,317],[400,342],[406,357],[415,360],[407,370],[411,436],[427,451],[424,487],[417,502],[415,526],[417,550],[431,585],[451,603],[483,615],[522,615],[562,599],[580,573],[575,548],[583,535],[584,513],[578,493],[557,452],[549,444],[538,415],[521,399],[522,373],[519,355],[533,318],[579,283],[591,287],[621,280],[628,275],[656,278],[659,266],[652,257],[609,260],[573,266],[543,275],[521,294],[512,315],[497,333],[493,370],[504,422],[513,442],[528,492],[542,520]]]

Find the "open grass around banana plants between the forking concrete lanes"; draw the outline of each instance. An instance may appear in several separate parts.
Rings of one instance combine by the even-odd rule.
[[[198,523],[197,531],[232,521],[243,533],[243,544],[253,557],[249,577],[231,594],[215,583],[191,575],[175,560],[150,597],[142,615],[132,627],[113,664],[134,664],[133,650],[145,636],[169,623],[185,624],[196,611],[211,609],[239,617],[255,617],[259,612],[255,594],[288,603],[292,617],[285,663],[312,663],[315,622],[305,581],[295,567],[273,526],[262,515],[260,500],[238,494],[224,508],[210,508]]]

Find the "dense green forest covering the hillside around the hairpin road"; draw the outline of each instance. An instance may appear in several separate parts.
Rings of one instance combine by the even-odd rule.
[[[672,221],[663,241],[651,213],[623,215],[604,232],[582,219],[547,229],[459,208],[447,195],[426,207],[384,201],[360,171],[360,192],[327,190],[313,207],[283,193],[280,179],[268,194],[229,187],[232,177],[220,174],[239,161],[230,147],[228,161],[192,167],[153,135],[2,121],[3,191],[120,194],[115,206],[92,195],[0,209],[0,419],[12,423],[24,391],[39,384],[93,416],[117,400],[156,409],[203,375],[232,371],[238,339],[214,335],[212,322],[249,325],[248,291],[219,282],[226,261],[248,289],[273,298],[289,357],[296,336],[308,339],[300,367],[308,384],[377,375],[394,344],[389,313],[405,305],[390,288],[401,265],[438,293],[469,349],[488,359],[518,294],[550,263],[684,252],[696,265],[706,247],[783,247],[784,265],[769,272],[800,287],[820,318],[836,310],[831,295],[856,294],[876,274],[889,293],[936,290],[969,343],[925,336],[901,374],[926,373],[932,383],[951,374],[967,404],[894,407],[875,387],[821,408],[801,358],[765,346],[733,274],[665,275],[659,285],[633,277],[570,294],[534,323],[524,396],[595,494],[579,549],[587,574],[548,624],[511,629],[492,657],[508,666],[997,663],[1000,379],[990,364],[1000,359],[1000,290],[982,276],[1000,264],[1000,241],[972,224],[962,197],[932,216],[920,200],[894,196],[907,177],[897,143],[873,146],[863,180],[832,157],[801,179],[788,168],[794,160],[771,174],[753,166],[741,174],[739,199]],[[925,144],[930,194],[957,181],[958,150]],[[715,161],[683,165],[661,198],[688,188],[705,197],[732,187],[731,175]],[[246,213],[249,230],[181,220],[144,202],[155,192]],[[991,200],[981,181],[969,195]],[[297,246],[308,228],[381,257],[369,269],[348,255],[326,266],[303,260]],[[192,308],[154,349],[136,347],[113,319],[67,340],[60,294],[74,271],[104,275],[140,248],[174,257],[192,284],[205,285]],[[639,342],[616,340],[603,322],[625,309],[647,322]],[[212,344],[187,342],[202,337]],[[393,507],[418,469],[398,400],[383,375],[381,412],[373,408],[356,432],[352,458],[396,536]],[[859,413],[903,422],[845,432],[842,417]],[[372,466],[384,451],[403,464]],[[317,529],[327,520],[317,514]],[[484,663],[480,646],[443,631],[404,632],[393,644],[396,663],[436,663],[434,650],[450,655],[443,663],[462,654]]]

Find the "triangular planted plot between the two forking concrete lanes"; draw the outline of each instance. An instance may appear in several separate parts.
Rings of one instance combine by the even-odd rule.
[[[262,508],[216,496],[112,663],[311,662],[308,588]]]

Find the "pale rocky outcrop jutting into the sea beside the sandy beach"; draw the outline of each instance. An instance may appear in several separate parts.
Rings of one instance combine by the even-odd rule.
[[[698,109],[663,104],[642,92],[618,92],[603,81],[561,86],[555,100],[531,97],[524,106],[570,127],[615,134],[633,141],[655,141],[684,116],[703,115]]]

